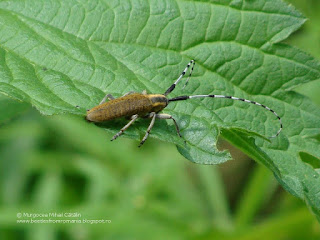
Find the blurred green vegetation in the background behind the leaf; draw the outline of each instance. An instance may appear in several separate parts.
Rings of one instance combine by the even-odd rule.
[[[309,21],[287,42],[320,59],[320,1],[288,2]],[[320,105],[320,80],[297,91]],[[235,160],[200,166],[171,144],[110,143],[79,117],[43,117],[4,96],[0,126],[0,239],[320,239],[303,201],[223,139]],[[17,223],[67,212],[81,216],[52,219],[111,223]]]

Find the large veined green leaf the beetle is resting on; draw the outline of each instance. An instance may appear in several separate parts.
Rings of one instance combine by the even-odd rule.
[[[319,79],[320,64],[279,43],[304,22],[280,0],[1,1],[0,91],[46,115],[85,114],[106,93],[163,93],[195,59],[190,84],[171,96],[257,101],[281,116],[283,132],[271,142],[253,139],[278,130],[270,112],[228,99],[196,99],[165,109],[187,145],[171,122],[158,121],[151,136],[177,144],[193,162],[216,164],[230,159],[216,147],[221,132],[320,218],[319,173],[299,158],[300,152],[320,157],[320,109],[293,91]],[[116,133],[123,124],[106,129]],[[125,135],[140,139],[147,124],[141,120]]]

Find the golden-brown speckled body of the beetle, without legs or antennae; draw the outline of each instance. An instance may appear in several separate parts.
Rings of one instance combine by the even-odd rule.
[[[127,96],[102,103],[87,112],[90,122],[104,122],[138,114],[144,117],[150,112],[159,112],[168,105],[168,99],[162,94],[131,93]]]

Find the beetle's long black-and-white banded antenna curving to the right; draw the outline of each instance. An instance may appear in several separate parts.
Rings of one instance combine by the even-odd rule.
[[[247,100],[247,99],[244,99],[244,98],[237,98],[237,97],[232,97],[232,96],[224,96],[224,95],[193,95],[193,96],[179,96],[179,97],[174,97],[174,98],[171,98],[171,99],[168,99],[169,102],[174,102],[174,101],[182,101],[182,100],[187,100],[187,99],[190,99],[190,98],[205,98],[205,97],[211,97],[211,98],[229,98],[229,99],[232,99],[232,100],[238,100],[238,101],[242,101],[242,102],[247,102],[247,103],[251,103],[251,104],[255,104],[255,105],[258,105],[260,107],[263,107],[264,109],[267,109],[268,111],[272,112],[279,120],[280,122],[280,128],[278,130],[278,132],[274,135],[274,136],[271,136],[269,138],[275,138],[277,137],[282,128],[283,128],[283,125],[282,125],[282,121],[281,121],[281,118],[280,116],[275,112],[273,111],[271,108],[261,104],[261,103],[258,103],[258,102],[255,102],[255,101],[250,101],[250,100]]]

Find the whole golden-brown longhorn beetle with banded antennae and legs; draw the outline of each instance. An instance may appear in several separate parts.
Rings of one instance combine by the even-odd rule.
[[[174,97],[174,98],[167,98],[167,95],[170,94],[176,87],[176,85],[179,83],[179,81],[182,79],[182,77],[186,74],[187,70],[189,67],[191,67],[190,74],[187,78],[187,81],[184,85],[184,87],[188,84],[188,81],[192,75],[192,71],[195,66],[195,60],[191,60],[186,68],[182,71],[181,75],[179,78],[167,89],[167,91],[164,94],[147,94],[146,91],[143,91],[142,93],[135,93],[135,92],[128,92],[122,97],[119,98],[114,98],[111,94],[107,94],[100,104],[90,110],[87,110],[87,116],[86,119],[90,122],[104,122],[108,120],[113,120],[116,118],[120,117],[128,117],[130,121],[128,122],[127,125],[125,125],[121,130],[113,136],[111,141],[115,140],[117,137],[119,137],[125,130],[128,129],[128,127],[131,126],[131,124],[137,120],[137,118],[142,117],[142,118],[151,118],[150,125],[147,129],[146,134],[144,135],[142,141],[140,142],[139,147],[142,146],[142,144],[147,140],[150,131],[154,125],[155,119],[172,119],[173,123],[176,127],[177,133],[179,137],[182,138],[179,126],[176,122],[176,120],[169,114],[164,114],[164,113],[159,113],[162,111],[164,108],[168,106],[170,102],[174,101],[182,101],[182,100],[187,100],[191,98],[229,98],[232,100],[238,100],[238,101],[243,101],[247,103],[252,103],[258,106],[263,107],[264,109],[269,110],[272,112],[279,120],[280,122],[280,128],[278,132],[270,137],[274,138],[277,137],[281,130],[282,130],[282,122],[281,118],[279,115],[273,111],[271,108],[260,104],[255,101],[243,99],[243,98],[237,98],[237,97],[232,97],[232,96],[224,96],[224,95],[192,95],[192,96],[179,96],[179,97]],[[183,87],[183,88],[184,88]],[[106,102],[107,98],[110,100]]]

